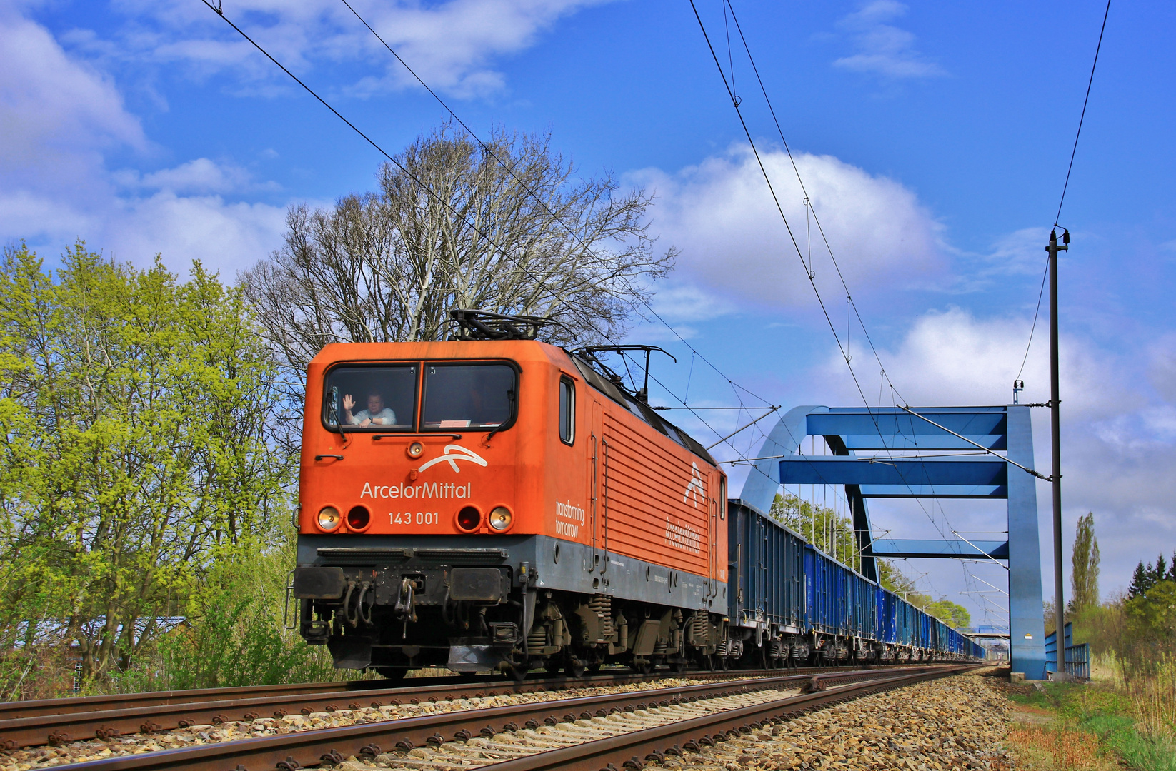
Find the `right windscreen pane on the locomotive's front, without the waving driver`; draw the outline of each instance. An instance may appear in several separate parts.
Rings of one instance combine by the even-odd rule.
[[[499,430],[514,418],[517,374],[507,364],[425,364],[421,430]]]

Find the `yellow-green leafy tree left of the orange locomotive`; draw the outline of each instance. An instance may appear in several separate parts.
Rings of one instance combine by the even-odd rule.
[[[6,249],[0,645],[60,629],[85,677],[126,668],[219,558],[255,549],[288,507],[274,376],[241,293],[199,263],[180,282],[79,243],[49,273]]]

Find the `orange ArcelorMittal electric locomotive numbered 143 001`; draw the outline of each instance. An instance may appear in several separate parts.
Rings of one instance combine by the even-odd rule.
[[[310,362],[294,594],[336,668],[579,676],[724,653],[724,475],[590,353],[521,336]]]

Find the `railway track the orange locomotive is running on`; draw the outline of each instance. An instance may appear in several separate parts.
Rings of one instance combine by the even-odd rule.
[[[599,688],[656,681],[731,679],[735,677],[797,676],[828,670],[737,670],[729,672],[688,672],[682,675],[634,675],[629,671],[601,672],[582,678],[536,677],[516,683],[510,679],[461,677],[420,678],[412,684],[389,688],[389,681],[346,683],[301,683],[253,688],[219,688],[158,693],[42,699],[0,704],[0,749],[61,745],[92,738],[127,733],[153,733],[194,725],[248,722],[262,717],[312,715],[381,708],[413,699],[450,700],[474,696],[507,696],[569,688]]]

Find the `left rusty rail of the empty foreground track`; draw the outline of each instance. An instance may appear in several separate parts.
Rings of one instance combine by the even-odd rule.
[[[957,666],[929,665],[904,669],[901,676],[957,671]],[[824,675],[791,675],[754,681],[704,683],[649,691],[628,691],[528,704],[460,710],[423,717],[360,723],[328,729],[266,736],[215,744],[200,744],[141,755],[109,757],[72,765],[76,771],[182,771],[188,769],[298,769],[321,763],[338,763],[354,755],[375,758],[381,752],[441,745],[473,736],[493,736],[520,726],[539,725],[609,715],[626,709],[668,706],[720,696],[749,693],[799,685],[816,679],[826,688],[862,679],[878,679],[877,670],[856,670]],[[837,695],[841,691],[828,693]]]

